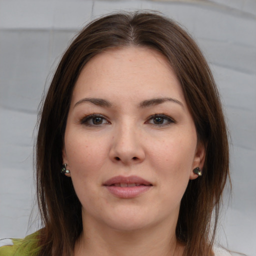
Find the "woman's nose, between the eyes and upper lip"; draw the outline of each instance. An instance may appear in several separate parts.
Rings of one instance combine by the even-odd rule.
[[[145,158],[145,151],[143,139],[139,133],[137,127],[127,123],[114,130],[109,150],[110,159],[125,165],[142,162]]]

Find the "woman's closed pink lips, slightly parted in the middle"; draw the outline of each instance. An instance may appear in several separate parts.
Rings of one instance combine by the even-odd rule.
[[[128,177],[119,175],[106,180],[103,186],[116,197],[133,198],[151,189],[152,183],[134,175]]]

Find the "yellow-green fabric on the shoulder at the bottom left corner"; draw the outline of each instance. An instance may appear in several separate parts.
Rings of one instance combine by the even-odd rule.
[[[27,235],[23,239],[11,239],[13,245],[0,247],[0,256],[36,256],[39,251],[37,234],[38,231]]]

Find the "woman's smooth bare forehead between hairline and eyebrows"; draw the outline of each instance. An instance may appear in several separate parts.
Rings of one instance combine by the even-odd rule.
[[[73,90],[75,100],[82,95],[98,97],[110,94],[144,96],[145,99],[176,96],[184,100],[179,81],[166,57],[145,47],[108,49],[83,67]]]

